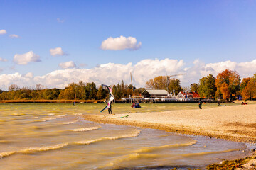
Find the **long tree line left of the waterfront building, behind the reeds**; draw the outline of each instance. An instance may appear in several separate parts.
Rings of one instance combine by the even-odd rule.
[[[116,99],[129,98],[134,95],[139,95],[144,91],[144,88],[137,89],[132,84],[124,84],[124,81],[112,86],[112,94]],[[65,89],[46,89],[41,84],[36,84],[36,88],[22,87],[16,84],[11,84],[8,91],[0,90],[0,100],[101,100],[108,96],[108,91],[102,89],[102,86],[96,86],[94,82],[68,84]]]

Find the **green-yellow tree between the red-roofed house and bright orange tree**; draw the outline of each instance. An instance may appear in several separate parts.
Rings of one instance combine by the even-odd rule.
[[[208,76],[199,80],[198,93],[201,98],[213,98],[216,93],[216,87],[215,77],[212,74],[208,74]]]

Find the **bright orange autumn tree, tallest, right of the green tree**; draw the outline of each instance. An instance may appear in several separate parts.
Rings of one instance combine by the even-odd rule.
[[[233,99],[236,92],[240,87],[240,76],[238,72],[225,69],[225,71],[219,73],[215,79],[215,86],[223,99]],[[217,94],[215,97],[218,97]]]

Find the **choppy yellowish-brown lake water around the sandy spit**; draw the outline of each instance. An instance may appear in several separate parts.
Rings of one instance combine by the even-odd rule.
[[[0,104],[0,169],[142,169],[200,167],[244,157],[239,142],[82,119],[104,104]],[[182,106],[182,107],[181,107]],[[215,107],[216,104],[205,105]],[[198,109],[197,104],[114,104],[114,113]],[[106,114],[105,111],[104,114]],[[161,167],[161,168],[160,168]]]

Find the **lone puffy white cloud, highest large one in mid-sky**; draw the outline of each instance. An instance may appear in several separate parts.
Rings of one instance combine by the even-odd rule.
[[[138,50],[142,46],[142,42],[137,44],[136,38],[120,36],[117,38],[107,38],[102,42],[100,48],[102,50]]]

